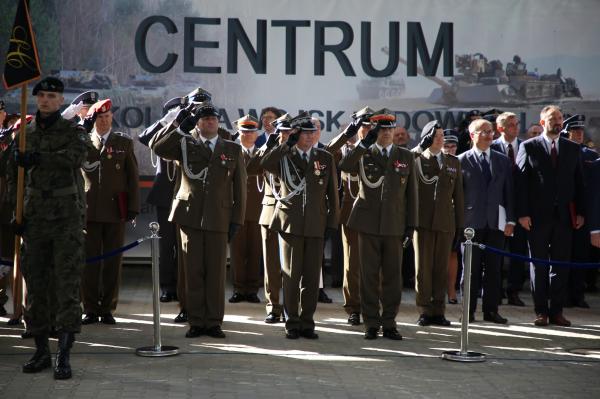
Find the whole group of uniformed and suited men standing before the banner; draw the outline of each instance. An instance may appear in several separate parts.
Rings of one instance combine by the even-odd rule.
[[[134,142],[112,129],[111,100],[85,92],[61,113],[63,90],[53,77],[35,86],[38,111],[28,118],[25,151],[0,102],[1,254],[11,259],[14,233],[22,237],[25,334],[37,348],[23,371],[51,366],[48,337],[56,334],[57,379],[71,376],[81,324],[115,324],[121,256],[99,257],[123,245],[125,223],[140,207]],[[317,302],[331,302],[322,288],[326,240],[332,263],[343,267],[333,274],[348,323],[362,317],[365,339],[380,331],[402,339],[395,318],[411,250],[414,266],[407,261],[404,269],[414,273],[417,324],[450,325],[445,306],[457,303],[464,227],[475,229],[475,241],[508,244],[522,256],[597,259],[600,160],[584,144],[585,118],[563,120],[556,106],[541,110],[525,141],[518,117],[493,109],[467,113],[456,130],[429,122],[412,150],[387,109],[355,112],[328,144],[319,141],[318,119],[277,107],[263,109],[260,120],[238,119],[232,135],[201,88],[166,102],[163,115],[138,139],[158,157],[147,202],[160,223],[160,298],[179,302],[175,322],[189,323],[189,338],[225,337],[228,245],[229,302],[260,303],[264,286],[265,322],[285,322],[289,339],[318,338]],[[25,194],[17,224],[19,167]],[[498,253],[474,247],[471,322],[479,298],[483,320],[493,323],[507,322],[498,312],[504,295],[524,306],[529,263],[510,259],[506,288],[502,264]],[[586,283],[595,287],[594,271],[534,263],[530,274],[536,326],[568,326],[563,307],[588,307],[583,293]]]

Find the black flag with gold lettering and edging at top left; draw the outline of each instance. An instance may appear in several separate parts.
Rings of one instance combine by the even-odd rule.
[[[19,0],[15,23],[10,32],[10,43],[4,65],[4,86],[12,89],[41,76],[40,61],[29,18],[27,0]]]

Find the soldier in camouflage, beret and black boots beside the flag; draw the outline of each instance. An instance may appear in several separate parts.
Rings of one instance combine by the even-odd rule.
[[[38,112],[26,130],[26,150],[19,152],[15,140],[9,149],[14,158],[8,165],[11,185],[17,180],[17,165],[25,169],[23,224],[16,229],[23,239],[21,266],[28,291],[25,322],[35,338],[36,352],[23,372],[50,367],[48,333],[54,322],[58,331],[55,379],[71,378],[70,350],[81,328],[85,203],[79,195],[78,174],[91,148],[85,130],[60,116],[63,89],[63,83],[53,77],[35,85]],[[54,320],[51,297],[56,298]]]

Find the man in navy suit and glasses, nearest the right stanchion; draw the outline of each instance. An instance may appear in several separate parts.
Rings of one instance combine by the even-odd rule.
[[[465,226],[475,229],[475,241],[495,248],[504,246],[515,225],[514,187],[510,162],[490,149],[493,125],[478,119],[469,125],[473,148],[459,155],[464,187]],[[473,247],[471,259],[470,321],[475,321],[477,296],[483,287],[483,320],[505,324],[498,313],[502,258]]]

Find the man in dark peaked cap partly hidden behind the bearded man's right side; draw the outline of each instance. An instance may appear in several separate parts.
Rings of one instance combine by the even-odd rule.
[[[562,135],[569,140],[579,144],[581,149],[581,161],[583,165],[583,179],[585,183],[585,219],[588,218],[590,209],[595,205],[591,199],[593,191],[598,191],[598,185],[594,185],[591,180],[591,166],[598,153],[584,144],[585,138],[585,116],[575,114],[564,121]],[[582,228],[573,231],[573,244],[571,249],[571,260],[573,262],[591,262],[592,250],[589,240],[589,226],[586,223]],[[579,308],[589,308],[590,305],[585,300],[585,276],[586,272],[592,269],[570,268],[568,270],[567,298],[565,307],[577,306]]]

